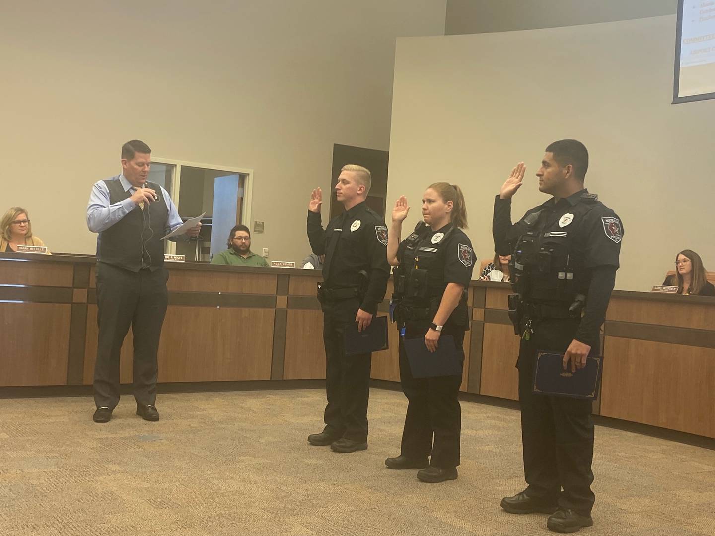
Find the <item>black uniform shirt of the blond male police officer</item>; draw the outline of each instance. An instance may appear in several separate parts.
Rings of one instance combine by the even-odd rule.
[[[390,279],[388,227],[380,215],[363,202],[330,220],[324,230],[320,213],[308,211],[307,234],[313,253],[325,254],[322,277],[327,288],[358,287],[359,272],[368,274],[360,309],[375,314]]]

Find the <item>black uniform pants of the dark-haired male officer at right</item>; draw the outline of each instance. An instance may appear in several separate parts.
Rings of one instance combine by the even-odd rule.
[[[578,322],[578,319],[544,319],[535,322],[528,341],[521,339],[518,360],[521,438],[526,495],[590,515],[595,500],[591,491],[591,400],[532,392],[536,352],[565,352]],[[591,348],[591,355],[598,355],[599,346]]]

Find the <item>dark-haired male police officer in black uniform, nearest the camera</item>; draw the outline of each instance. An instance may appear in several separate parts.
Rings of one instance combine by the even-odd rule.
[[[618,269],[623,226],[616,214],[583,188],[586,147],[554,142],[537,172],[539,190],[553,197],[511,224],[511,197],[521,187],[523,162],[494,202],[498,254],[511,254],[510,315],[521,334],[519,402],[524,476],[528,487],[501,506],[507,512],[552,514],[547,527],[576,532],[593,525],[591,401],[533,394],[537,350],[565,352],[572,372],[600,349],[599,330]],[[561,488],[563,487],[563,492]]]

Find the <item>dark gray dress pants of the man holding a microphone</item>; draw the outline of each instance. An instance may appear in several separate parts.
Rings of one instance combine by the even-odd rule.
[[[169,272],[159,267],[154,272],[139,272],[97,263],[97,325],[99,337],[94,365],[94,403],[114,407],[119,403],[119,354],[132,326],[134,399],[139,405],[154,405],[157,400],[157,352],[167,312]]]

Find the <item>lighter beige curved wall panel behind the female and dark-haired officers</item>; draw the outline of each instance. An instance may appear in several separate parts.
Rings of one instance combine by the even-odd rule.
[[[493,197],[528,167],[513,216],[547,198],[534,172],[556,139],[591,153],[586,186],[623,219],[616,288],[660,284],[689,247],[715,270],[715,101],[671,105],[676,17],[398,39],[388,202],[420,213],[435,179],[465,190],[478,257],[493,255]]]

